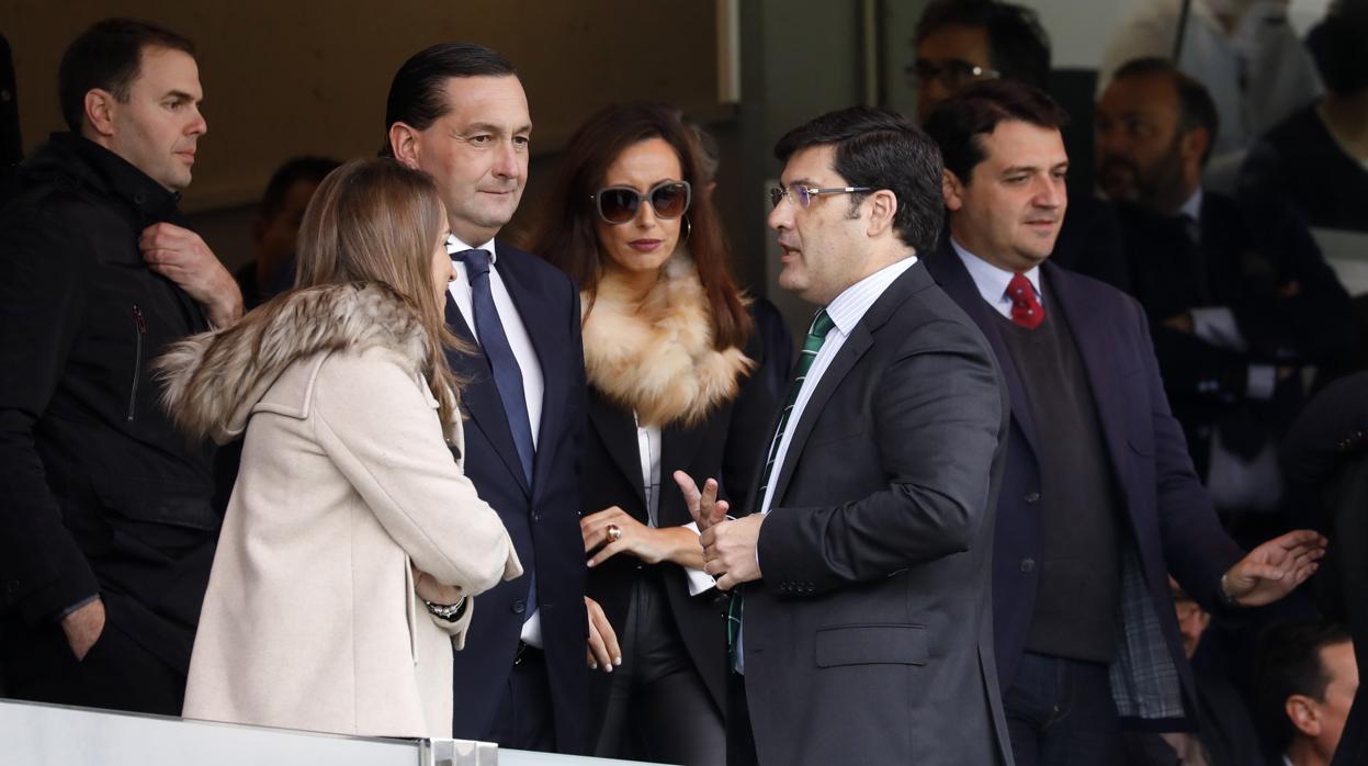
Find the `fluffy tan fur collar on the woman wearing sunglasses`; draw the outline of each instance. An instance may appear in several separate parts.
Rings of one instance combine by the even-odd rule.
[[[651,425],[696,425],[733,399],[755,362],[713,347],[713,317],[694,261],[673,256],[646,300],[605,274],[581,295],[584,372],[595,388]]]

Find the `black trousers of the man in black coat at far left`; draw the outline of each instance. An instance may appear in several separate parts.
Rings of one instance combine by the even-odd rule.
[[[56,624],[0,626],[0,674],[12,699],[181,715],[185,672],[148,651],[105,603],[100,639],[77,661]]]

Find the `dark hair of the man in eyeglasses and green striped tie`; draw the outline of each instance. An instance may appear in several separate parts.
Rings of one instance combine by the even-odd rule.
[[[940,150],[917,123],[874,107],[850,107],[806,122],[774,145],[787,163],[800,149],[833,146],[834,170],[850,186],[888,189],[897,197],[893,230],[918,253],[936,249],[941,230]],[[867,194],[851,194],[854,209]]]

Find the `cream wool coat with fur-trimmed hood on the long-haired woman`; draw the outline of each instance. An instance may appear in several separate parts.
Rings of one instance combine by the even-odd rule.
[[[160,364],[178,424],[220,442],[246,430],[183,714],[449,737],[473,603],[434,618],[410,564],[468,596],[521,566],[453,461],[461,424],[438,419],[413,311],[373,285],[286,300]]]

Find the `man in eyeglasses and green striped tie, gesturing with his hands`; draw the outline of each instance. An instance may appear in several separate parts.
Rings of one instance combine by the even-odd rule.
[[[989,599],[1007,397],[919,261],[941,226],[936,146],[855,107],[776,155],[778,280],[822,309],[736,509],[752,513],[722,520],[676,475],[706,572],[746,584],[729,762],[1007,763]]]

